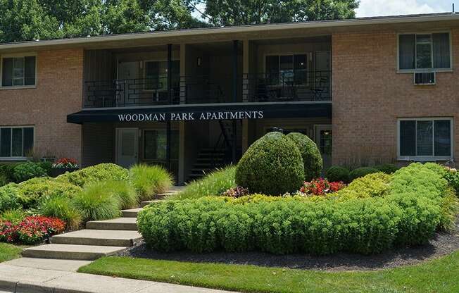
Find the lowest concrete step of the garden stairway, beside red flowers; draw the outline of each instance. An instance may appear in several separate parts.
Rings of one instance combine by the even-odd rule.
[[[94,245],[46,244],[23,250],[23,256],[32,258],[75,259],[94,261],[102,256],[111,256],[127,247],[105,247]]]

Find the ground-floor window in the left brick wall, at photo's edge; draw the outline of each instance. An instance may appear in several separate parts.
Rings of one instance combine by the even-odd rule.
[[[33,127],[0,127],[0,158],[25,158],[33,149]]]

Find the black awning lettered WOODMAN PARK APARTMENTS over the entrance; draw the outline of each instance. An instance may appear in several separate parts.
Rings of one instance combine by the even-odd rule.
[[[332,103],[258,103],[87,109],[67,116],[68,123],[232,120],[261,118],[332,118]]]

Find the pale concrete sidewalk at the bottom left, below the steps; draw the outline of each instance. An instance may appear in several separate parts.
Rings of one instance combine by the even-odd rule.
[[[228,293],[161,282],[0,264],[0,292],[10,293]],[[73,270],[73,269],[72,269]]]

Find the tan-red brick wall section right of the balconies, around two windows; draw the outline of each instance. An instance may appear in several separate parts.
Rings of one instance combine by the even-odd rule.
[[[422,87],[396,73],[396,32],[332,36],[334,164],[394,161],[403,117],[453,117],[459,156],[459,29],[451,34],[454,71]]]

